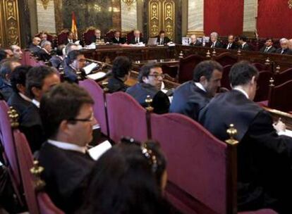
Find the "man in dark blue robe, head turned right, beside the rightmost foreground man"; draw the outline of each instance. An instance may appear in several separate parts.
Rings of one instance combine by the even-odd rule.
[[[222,66],[216,61],[203,61],[195,67],[193,80],[181,84],[174,91],[169,112],[187,115],[193,120],[216,94],[222,78]]]

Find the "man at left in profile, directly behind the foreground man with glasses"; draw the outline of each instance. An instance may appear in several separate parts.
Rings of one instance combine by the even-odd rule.
[[[54,68],[39,66],[28,71],[25,82],[27,94],[32,102],[20,114],[20,130],[28,139],[32,152],[35,152],[39,150],[45,140],[42,122],[39,117],[39,101],[45,92],[60,83],[60,78]]]

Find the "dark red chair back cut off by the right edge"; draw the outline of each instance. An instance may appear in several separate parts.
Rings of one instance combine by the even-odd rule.
[[[268,107],[285,112],[292,111],[291,92],[292,80],[277,86],[270,84]]]

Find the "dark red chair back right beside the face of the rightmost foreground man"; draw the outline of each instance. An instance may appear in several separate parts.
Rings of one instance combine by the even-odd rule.
[[[261,70],[257,80],[257,94],[255,94],[255,102],[267,101],[269,97],[269,80],[273,77],[273,73],[268,70]]]

